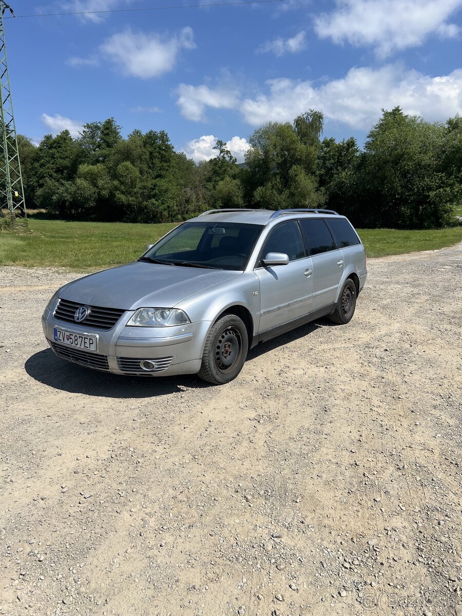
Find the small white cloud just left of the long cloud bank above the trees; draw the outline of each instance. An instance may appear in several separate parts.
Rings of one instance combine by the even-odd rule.
[[[233,109],[238,103],[238,92],[234,89],[208,86],[190,86],[181,83],[176,93],[179,98],[176,102],[181,115],[187,120],[195,122],[205,120],[205,108]]]

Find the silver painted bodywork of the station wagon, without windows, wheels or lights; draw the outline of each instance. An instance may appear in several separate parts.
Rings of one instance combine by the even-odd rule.
[[[227,310],[241,309],[249,315],[250,346],[251,342],[256,344],[318,315],[328,314],[338,301],[346,278],[357,277],[358,290],[362,289],[367,277],[362,243],[303,257],[286,265],[262,267],[259,263],[262,247],[275,226],[301,217],[328,220],[333,216],[298,212],[271,218],[272,214],[274,212],[265,210],[222,212],[188,221],[262,225],[262,232],[242,271],[135,261],[68,283],[59,290],[54,303],[48,306],[42,317],[47,341],[53,348],[54,328],[96,336],[97,354],[107,357],[108,370],[105,371],[113,373],[152,376],[197,373],[209,330]],[[123,309],[124,314],[110,330],[63,322],[54,317],[60,299],[82,306]],[[142,307],[184,310],[190,323],[163,327],[128,326],[134,312]],[[74,361],[83,363],[85,359],[79,357]],[[126,359],[126,362],[118,362],[118,358]],[[131,359],[139,362],[160,360],[161,369],[154,372],[146,372],[141,367],[133,371],[121,370],[121,365],[136,366]]]

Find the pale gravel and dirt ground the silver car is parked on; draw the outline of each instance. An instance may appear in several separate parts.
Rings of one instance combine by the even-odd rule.
[[[47,349],[0,269],[0,614],[462,614],[462,244],[368,261],[349,325],[221,387]]]

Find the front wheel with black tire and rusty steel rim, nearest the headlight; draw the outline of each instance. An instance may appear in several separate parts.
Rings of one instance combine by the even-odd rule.
[[[244,323],[234,314],[224,315],[209,331],[197,376],[215,385],[229,383],[242,370],[248,347]]]

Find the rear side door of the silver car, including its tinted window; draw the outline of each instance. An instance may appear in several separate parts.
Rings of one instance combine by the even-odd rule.
[[[300,219],[313,264],[312,312],[336,300],[343,275],[344,258],[322,218]]]

